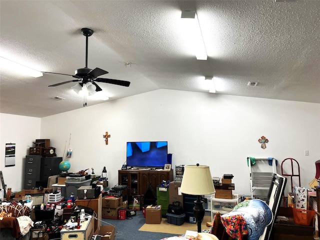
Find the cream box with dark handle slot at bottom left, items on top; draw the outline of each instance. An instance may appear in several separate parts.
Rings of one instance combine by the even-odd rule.
[[[69,223],[70,220],[66,224]],[[93,218],[89,218],[81,223],[80,229],[69,230],[63,227],[60,231],[61,240],[90,240],[93,235],[94,221]]]

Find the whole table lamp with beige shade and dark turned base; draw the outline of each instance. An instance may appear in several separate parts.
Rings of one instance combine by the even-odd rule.
[[[197,223],[197,231],[201,232],[204,216],[203,197],[215,192],[209,166],[185,165],[180,190],[182,193],[196,195],[193,214]]]

